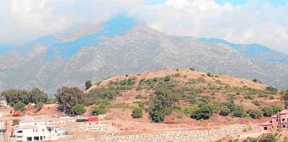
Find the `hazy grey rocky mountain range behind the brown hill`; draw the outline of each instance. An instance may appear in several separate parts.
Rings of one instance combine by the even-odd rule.
[[[53,95],[63,85],[85,88],[86,80],[189,67],[288,86],[288,55],[277,50],[169,35],[118,15],[102,23],[74,24],[20,46],[0,44],[0,91],[39,87]]]

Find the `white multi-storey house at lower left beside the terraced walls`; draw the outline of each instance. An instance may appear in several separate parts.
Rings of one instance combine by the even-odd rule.
[[[19,121],[19,127],[15,128],[16,141],[56,140],[59,133],[59,126],[52,126],[49,121],[33,117]]]

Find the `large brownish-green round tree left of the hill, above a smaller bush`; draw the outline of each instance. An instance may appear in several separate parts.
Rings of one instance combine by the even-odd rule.
[[[61,89],[57,89],[55,94],[58,103],[65,107],[74,106],[75,104],[85,103],[85,94],[78,87],[67,87],[63,86]]]

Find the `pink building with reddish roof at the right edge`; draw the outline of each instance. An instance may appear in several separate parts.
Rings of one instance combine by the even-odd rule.
[[[288,110],[283,109],[278,114],[271,116],[272,120],[261,124],[262,130],[271,130],[273,128],[278,129],[278,124],[281,128],[287,128],[288,121]]]

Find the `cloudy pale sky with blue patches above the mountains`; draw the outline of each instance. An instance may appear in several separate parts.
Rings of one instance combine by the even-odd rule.
[[[288,54],[288,0],[0,0],[0,44],[21,44],[119,13],[162,32],[260,43]]]

